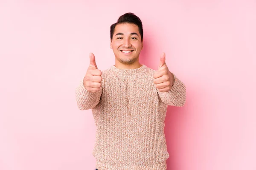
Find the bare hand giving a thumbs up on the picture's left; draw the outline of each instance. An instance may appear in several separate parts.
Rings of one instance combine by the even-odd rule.
[[[101,87],[102,72],[97,68],[94,54],[90,53],[89,57],[90,57],[90,65],[84,76],[84,88],[87,91],[96,93],[97,91],[99,91],[99,88]]]

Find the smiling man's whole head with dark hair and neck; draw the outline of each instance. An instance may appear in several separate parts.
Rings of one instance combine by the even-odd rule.
[[[123,14],[111,25],[111,49],[118,65],[139,63],[143,48],[143,26],[139,17],[132,13]]]

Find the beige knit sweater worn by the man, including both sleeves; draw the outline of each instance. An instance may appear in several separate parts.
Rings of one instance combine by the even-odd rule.
[[[167,105],[183,106],[185,85],[175,77],[169,92],[157,90],[155,70],[115,66],[102,71],[102,87],[88,92],[81,81],[76,101],[92,109],[97,127],[93,156],[99,170],[166,170],[164,134]]]

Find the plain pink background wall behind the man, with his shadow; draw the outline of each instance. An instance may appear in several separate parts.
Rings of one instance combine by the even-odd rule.
[[[120,3],[122,2],[122,3]],[[114,64],[110,25],[144,26],[141,63],[166,63],[187,88],[169,107],[168,170],[256,169],[255,0],[1,0],[0,170],[93,170],[91,110],[75,88]]]

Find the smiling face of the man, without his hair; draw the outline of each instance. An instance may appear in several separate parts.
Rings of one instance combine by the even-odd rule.
[[[116,61],[122,64],[133,64],[138,62],[143,41],[139,28],[135,24],[122,23],[116,25],[111,42]]]

